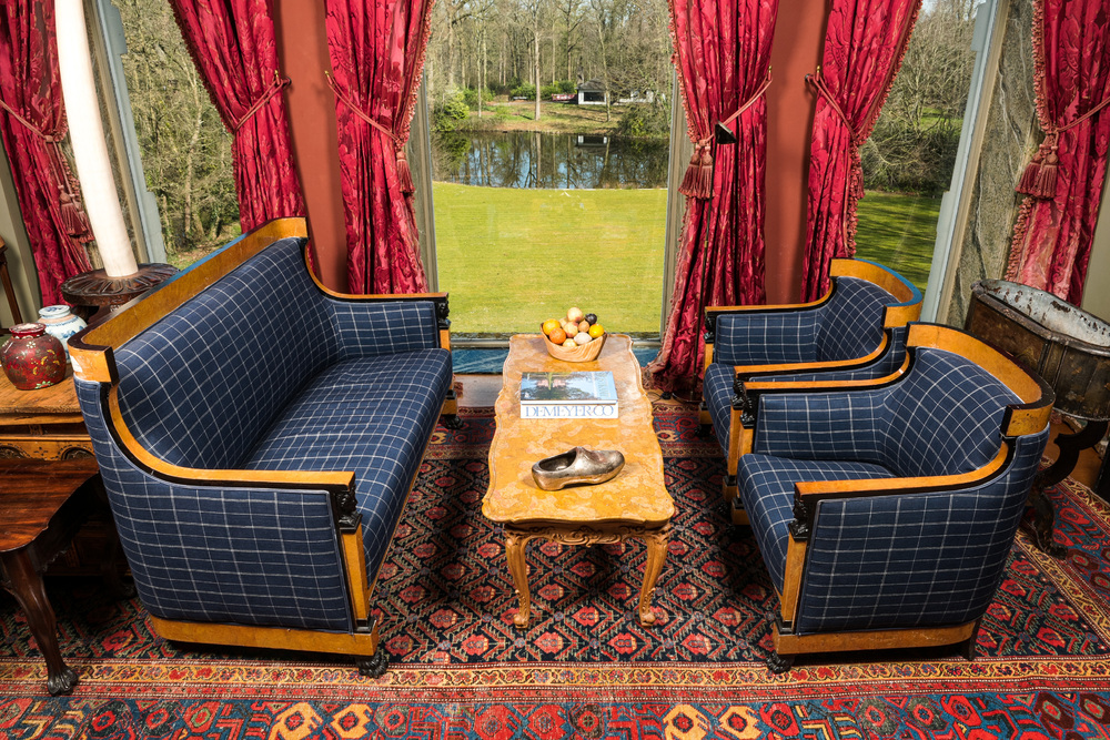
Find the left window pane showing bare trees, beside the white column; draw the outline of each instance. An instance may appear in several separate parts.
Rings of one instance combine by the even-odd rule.
[[[231,134],[209,100],[165,0],[112,0],[147,187],[167,257],[185,267],[240,234]]]

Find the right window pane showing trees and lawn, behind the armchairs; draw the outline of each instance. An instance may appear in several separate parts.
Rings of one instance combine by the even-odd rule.
[[[898,271],[925,292],[940,199],[951,184],[981,0],[926,0],[901,70],[860,149],[866,195],[856,255]]]

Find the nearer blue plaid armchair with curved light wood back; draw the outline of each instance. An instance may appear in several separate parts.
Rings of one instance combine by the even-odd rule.
[[[957,330],[911,324],[907,344],[892,378],[751,399],[737,477],[779,596],[773,670],[871,648],[962,642],[973,657],[1053,395]]]

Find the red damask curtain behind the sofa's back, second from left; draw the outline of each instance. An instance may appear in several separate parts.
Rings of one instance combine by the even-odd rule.
[[[172,0],[178,26],[234,138],[243,231],[304,214],[278,67],[272,0]]]

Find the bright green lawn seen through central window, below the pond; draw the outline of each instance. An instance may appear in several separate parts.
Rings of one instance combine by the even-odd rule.
[[[452,333],[534,332],[572,305],[610,332],[659,331],[666,190],[432,191]]]

